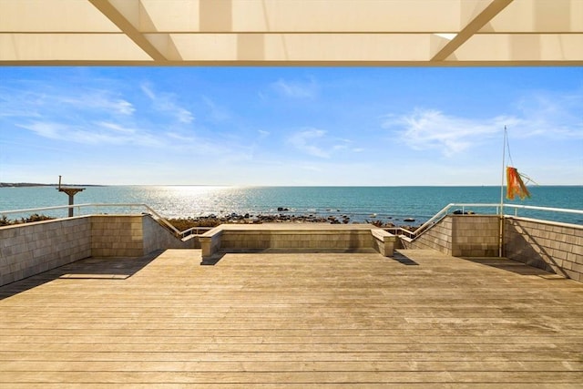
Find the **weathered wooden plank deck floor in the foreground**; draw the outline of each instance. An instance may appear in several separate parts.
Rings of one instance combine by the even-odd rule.
[[[581,388],[583,284],[435,251],[88,259],[0,288],[0,387]]]

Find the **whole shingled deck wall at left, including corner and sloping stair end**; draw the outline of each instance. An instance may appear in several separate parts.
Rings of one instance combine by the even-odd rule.
[[[199,248],[149,215],[93,215],[0,228],[0,286],[87,257],[141,257]]]

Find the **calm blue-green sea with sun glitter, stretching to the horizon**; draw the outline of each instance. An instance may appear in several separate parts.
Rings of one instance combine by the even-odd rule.
[[[509,204],[583,210],[583,186],[529,188],[531,199],[505,200]],[[68,197],[54,187],[0,188],[2,210],[66,205]],[[286,214],[347,215],[353,221],[383,220],[395,224],[413,218],[430,219],[449,203],[499,203],[499,187],[200,187],[107,186],[87,187],[76,204],[144,203],[167,218],[225,215]],[[476,213],[496,210],[471,209]],[[512,213],[514,210],[506,210]],[[50,214],[50,211],[38,213]],[[373,218],[372,215],[376,216]],[[583,224],[583,215],[520,210],[520,216]],[[58,215],[56,215],[58,216]],[[8,215],[14,219],[14,215]]]

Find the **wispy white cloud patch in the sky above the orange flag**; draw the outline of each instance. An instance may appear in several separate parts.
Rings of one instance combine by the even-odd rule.
[[[416,150],[437,149],[453,157],[499,137],[507,126],[514,138],[583,139],[583,94],[530,94],[510,108],[512,115],[462,118],[437,109],[387,115],[382,127]]]

